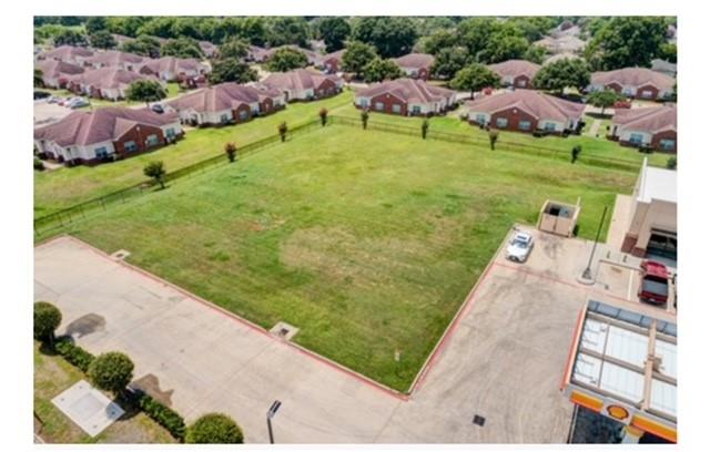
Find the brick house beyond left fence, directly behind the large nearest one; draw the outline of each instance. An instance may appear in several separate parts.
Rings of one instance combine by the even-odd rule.
[[[284,106],[284,94],[278,90],[232,82],[205,88],[168,102],[168,107],[178,113],[182,123],[193,125],[242,123]]]

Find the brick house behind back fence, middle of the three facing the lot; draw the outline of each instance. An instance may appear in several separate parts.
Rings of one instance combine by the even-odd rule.
[[[479,126],[564,134],[580,126],[585,105],[532,90],[515,90],[467,101],[468,121]]]

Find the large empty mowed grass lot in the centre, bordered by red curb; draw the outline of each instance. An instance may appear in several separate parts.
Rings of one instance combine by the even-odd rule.
[[[406,390],[514,222],[581,196],[579,233],[594,237],[635,181],[329,125],[67,232],[264,328],[294,325],[296,342]]]

